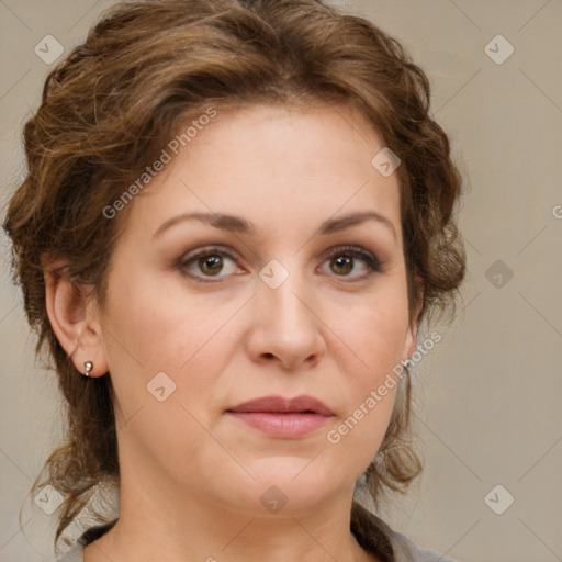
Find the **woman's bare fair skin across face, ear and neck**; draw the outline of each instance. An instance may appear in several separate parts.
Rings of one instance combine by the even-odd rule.
[[[130,203],[103,308],[48,279],[61,345],[115,391],[120,520],[86,562],[376,560],[350,532],[350,508],[395,389],[337,445],[327,432],[415,348],[398,180],[371,166],[383,146],[347,106],[220,112]],[[366,211],[389,224],[317,233]],[[183,221],[155,236],[187,212],[244,217],[256,233]],[[179,263],[210,245],[233,257],[211,270]],[[380,270],[346,250],[326,256],[344,245],[376,256]],[[259,277],[271,259],[289,272],[277,289]],[[147,390],[158,372],[176,384],[162,402]],[[316,396],[334,416],[288,439],[225,413],[269,394]],[[276,514],[260,502],[272,485],[288,498]]]

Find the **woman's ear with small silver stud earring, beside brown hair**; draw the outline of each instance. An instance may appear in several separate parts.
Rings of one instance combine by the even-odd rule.
[[[76,369],[85,373],[86,361],[93,368],[90,376],[106,373],[108,362],[103,353],[101,326],[94,317],[93,302],[86,285],[70,281],[61,270],[66,263],[56,261],[45,271],[45,299],[47,315],[53,330]]]

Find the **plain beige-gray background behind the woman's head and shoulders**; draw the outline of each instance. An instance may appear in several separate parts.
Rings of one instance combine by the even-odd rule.
[[[67,52],[112,3],[0,0],[1,204],[49,70],[35,45],[50,34]],[[467,180],[469,279],[453,327],[434,328],[443,340],[414,374],[426,470],[383,516],[463,562],[561,561],[562,2],[337,3],[398,37],[428,72]],[[515,49],[502,64],[490,56],[508,53],[498,34]],[[0,243],[0,561],[35,562],[52,558],[53,517],[27,502],[22,530],[18,514],[57,441],[60,398],[33,359],[3,233]]]

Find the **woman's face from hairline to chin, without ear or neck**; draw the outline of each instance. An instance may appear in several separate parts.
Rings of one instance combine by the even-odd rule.
[[[130,203],[97,312],[122,473],[248,514],[352,490],[415,345],[383,146],[345,106],[218,112]]]

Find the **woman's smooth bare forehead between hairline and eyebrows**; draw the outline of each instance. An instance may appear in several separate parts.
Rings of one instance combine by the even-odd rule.
[[[169,161],[135,198],[132,218],[145,227],[188,211],[251,215],[258,225],[367,209],[400,221],[397,175],[371,164],[382,139],[349,106],[217,110],[195,135],[189,126],[176,137],[184,146],[168,148]]]

